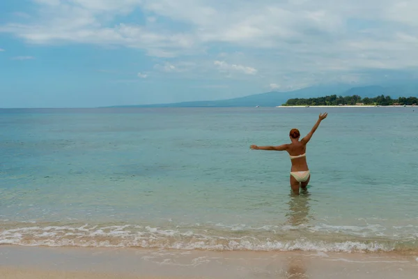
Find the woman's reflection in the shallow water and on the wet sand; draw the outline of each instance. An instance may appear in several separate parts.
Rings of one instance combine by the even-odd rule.
[[[300,195],[291,195],[288,202],[289,211],[287,214],[287,223],[292,226],[307,225],[309,223],[309,199],[310,194],[307,190],[300,193]],[[307,276],[306,257],[295,256],[291,257],[288,263],[286,278],[305,279]]]

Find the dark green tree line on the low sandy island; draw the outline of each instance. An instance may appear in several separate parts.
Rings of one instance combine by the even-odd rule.
[[[283,105],[414,105],[418,103],[417,97],[399,97],[392,99],[390,96],[377,96],[375,98],[362,98],[353,96],[325,96],[318,98],[294,98],[289,99]]]

